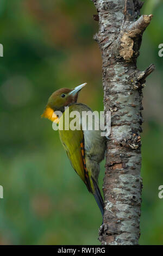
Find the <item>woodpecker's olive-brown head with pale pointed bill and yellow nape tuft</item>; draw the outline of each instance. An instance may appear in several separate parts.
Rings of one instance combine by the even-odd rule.
[[[55,111],[65,111],[65,107],[76,103],[78,100],[78,93],[82,88],[86,86],[86,83],[80,84],[80,86],[74,89],[61,88],[55,91],[48,99],[45,111],[41,117],[48,118],[51,121],[58,123],[58,117],[55,115]]]

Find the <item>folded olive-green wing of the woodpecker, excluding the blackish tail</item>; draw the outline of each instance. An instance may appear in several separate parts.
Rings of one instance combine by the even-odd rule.
[[[64,114],[61,120],[64,124]],[[59,124],[60,124],[59,121]],[[71,121],[71,118],[70,118]],[[87,189],[93,193],[93,183],[91,173],[87,171],[85,163],[85,150],[84,150],[84,134],[83,130],[60,130],[59,136],[61,143],[66,150],[68,159],[72,164],[73,169],[77,172],[80,178],[84,181]]]

